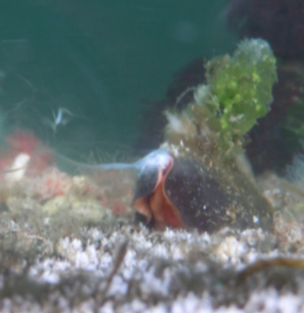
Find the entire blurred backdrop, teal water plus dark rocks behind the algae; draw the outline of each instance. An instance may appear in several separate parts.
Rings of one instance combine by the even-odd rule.
[[[72,159],[99,154],[93,150],[143,156],[163,142],[163,111],[184,109],[205,83],[210,59],[231,54],[242,39],[262,38],[277,58],[278,79],[270,113],[247,134],[247,157],[255,174],[285,175],[303,152],[298,0],[0,5],[3,143],[19,129]]]

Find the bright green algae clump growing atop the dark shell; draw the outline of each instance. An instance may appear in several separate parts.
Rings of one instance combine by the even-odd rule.
[[[214,58],[206,70],[207,85],[197,88],[195,104],[204,111],[209,128],[217,132],[221,152],[229,153],[242,147],[244,135],[257,118],[270,111],[276,57],[268,42],[246,39],[232,57]]]

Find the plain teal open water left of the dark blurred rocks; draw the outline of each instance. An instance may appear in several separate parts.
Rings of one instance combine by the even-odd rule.
[[[2,133],[34,131],[61,151],[84,142],[150,148],[137,144],[142,122],[173,76],[235,49],[226,9],[224,0],[2,1]],[[72,118],[55,130],[59,108]]]

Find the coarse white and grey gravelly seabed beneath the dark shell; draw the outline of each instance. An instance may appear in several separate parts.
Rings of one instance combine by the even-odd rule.
[[[6,190],[0,312],[304,311],[304,226],[291,210],[302,199],[277,178],[261,186],[274,229],[213,234],[156,232],[87,195],[42,202]]]

